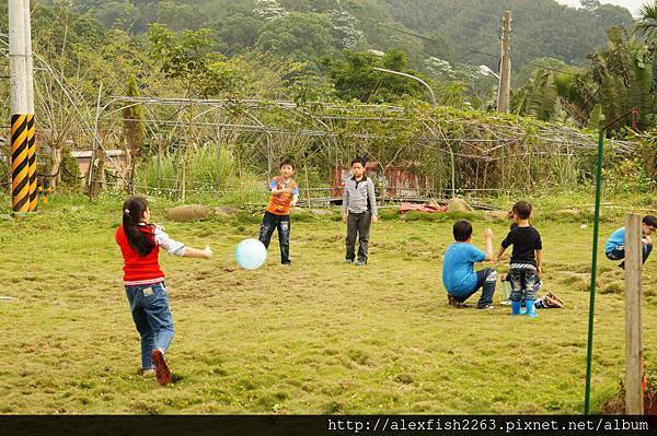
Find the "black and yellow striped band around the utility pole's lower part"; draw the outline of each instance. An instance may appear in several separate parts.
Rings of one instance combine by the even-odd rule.
[[[11,117],[11,198],[14,212],[30,212],[27,115]]]

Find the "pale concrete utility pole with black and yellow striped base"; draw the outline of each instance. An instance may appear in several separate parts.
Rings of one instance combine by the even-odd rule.
[[[30,0],[9,0],[9,69],[11,97],[11,196],[14,212],[36,209],[34,158],[34,97],[32,85],[32,37]],[[27,47],[30,45],[30,48]],[[30,81],[30,83],[28,83]],[[32,148],[30,143],[32,142]],[[32,160],[30,158],[32,153]],[[31,202],[31,177],[34,203]],[[31,208],[31,207],[34,208]]]

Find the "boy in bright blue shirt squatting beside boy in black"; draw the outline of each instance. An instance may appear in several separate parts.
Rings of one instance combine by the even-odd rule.
[[[493,260],[493,231],[486,228],[484,232],[486,252],[472,245],[472,224],[469,221],[457,221],[452,232],[454,244],[449,246],[442,261],[442,284],[447,290],[449,305],[466,307],[465,301],[481,288],[477,309],[494,309],[493,294],[497,272],[492,268],[474,271],[475,263]]]

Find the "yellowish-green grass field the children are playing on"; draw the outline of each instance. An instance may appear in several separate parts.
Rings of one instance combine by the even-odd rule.
[[[113,240],[122,200],[55,200],[30,220],[0,221],[0,295],[15,297],[0,302],[0,413],[581,412],[592,234],[581,220],[534,221],[543,291],[566,308],[532,320],[508,307],[447,305],[448,217],[380,221],[370,263],[358,268],[343,263],[339,221],[293,216],[292,266],[278,263],[275,236],[266,266],[249,272],[237,268],[234,247],[256,235],[260,215],[172,223],[155,203],[153,221],[171,236],[215,250],[209,261],[162,256],[176,334],[175,382],[160,387],[137,375],[139,337]],[[602,238],[622,223],[603,222]],[[480,247],[488,225],[497,247],[508,223],[475,220]],[[624,374],[622,272],[600,256],[595,410]],[[655,279],[657,257],[644,276],[652,367]]]

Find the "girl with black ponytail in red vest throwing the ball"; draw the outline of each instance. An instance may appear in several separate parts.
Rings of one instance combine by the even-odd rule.
[[[132,197],[123,205],[123,225],[116,229],[116,244],[124,257],[124,285],[137,331],[141,337],[141,375],[155,374],[160,385],[171,381],[164,358],[173,338],[173,319],[158,256],[160,247],[169,255],[209,259],[212,250],[185,247],[161,227],[150,224],[148,202]]]

